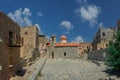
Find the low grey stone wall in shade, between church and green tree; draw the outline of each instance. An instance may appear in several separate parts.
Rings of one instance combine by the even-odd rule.
[[[104,61],[108,55],[107,49],[96,50],[88,53],[88,59]]]

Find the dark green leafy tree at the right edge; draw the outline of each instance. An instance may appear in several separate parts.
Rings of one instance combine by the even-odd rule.
[[[107,64],[115,70],[120,70],[120,31],[117,31],[115,41],[110,42],[108,47]]]

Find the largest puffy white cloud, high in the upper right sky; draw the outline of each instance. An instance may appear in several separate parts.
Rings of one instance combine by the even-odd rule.
[[[77,0],[79,1],[79,0]],[[87,0],[80,0],[84,2],[84,5],[81,5],[80,8],[76,9],[75,12],[81,16],[82,21],[89,22],[91,27],[97,24],[97,18],[100,14],[100,7],[90,4],[87,4]]]

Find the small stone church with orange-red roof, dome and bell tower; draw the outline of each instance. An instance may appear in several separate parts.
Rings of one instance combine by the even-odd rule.
[[[79,43],[68,43],[65,35],[62,35],[60,42],[56,43],[56,37],[52,36],[47,54],[50,58],[79,58]]]

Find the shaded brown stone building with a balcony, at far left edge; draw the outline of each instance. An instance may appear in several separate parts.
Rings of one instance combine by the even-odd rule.
[[[22,40],[18,24],[0,12],[0,80],[16,75]]]

